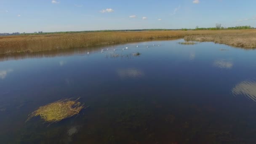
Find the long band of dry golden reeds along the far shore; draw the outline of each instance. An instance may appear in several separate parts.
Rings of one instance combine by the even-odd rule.
[[[147,40],[185,38],[214,41],[243,48],[256,47],[256,30],[196,30],[143,32],[83,32],[50,35],[19,35],[0,37],[0,53],[21,53],[91,47]],[[238,39],[238,41],[237,41]],[[232,43],[229,42],[232,40]],[[254,40],[254,41],[253,41]]]

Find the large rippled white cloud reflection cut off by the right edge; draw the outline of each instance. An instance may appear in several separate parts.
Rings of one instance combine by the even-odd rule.
[[[256,101],[256,82],[250,80],[243,81],[232,89],[232,93],[234,95],[244,95],[248,99]]]

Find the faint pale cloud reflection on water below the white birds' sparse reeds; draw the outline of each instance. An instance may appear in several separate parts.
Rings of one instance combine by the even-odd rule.
[[[121,78],[135,78],[144,76],[144,72],[136,68],[117,69],[117,74]]]

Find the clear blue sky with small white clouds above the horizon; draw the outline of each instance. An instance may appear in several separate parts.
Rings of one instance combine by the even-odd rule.
[[[256,0],[0,0],[0,33],[256,27]]]

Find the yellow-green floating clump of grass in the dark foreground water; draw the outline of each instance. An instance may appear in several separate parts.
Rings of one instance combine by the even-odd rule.
[[[64,99],[39,107],[29,115],[27,121],[32,117],[40,116],[45,122],[56,123],[68,117],[77,115],[84,107],[83,104],[77,100],[78,99],[75,101]]]

